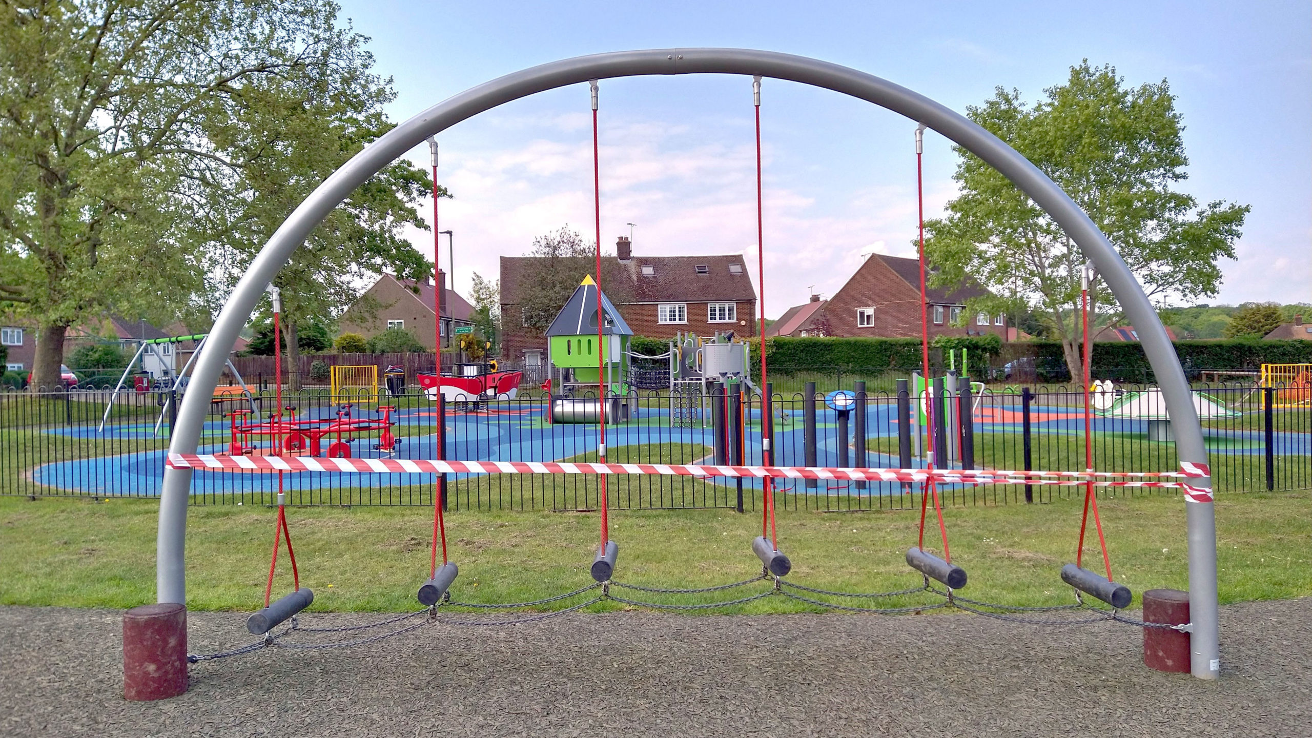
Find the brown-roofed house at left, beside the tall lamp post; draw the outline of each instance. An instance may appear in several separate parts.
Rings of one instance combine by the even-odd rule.
[[[446,272],[438,272],[446,285]],[[387,328],[409,331],[424,348],[433,349],[437,311],[433,297],[437,290],[429,282],[398,280],[392,274],[378,277],[374,286],[346,309],[337,324],[344,334],[359,334],[366,339]],[[377,310],[374,310],[377,307]],[[442,348],[451,345],[453,326],[472,326],[474,307],[451,289],[442,290]]]

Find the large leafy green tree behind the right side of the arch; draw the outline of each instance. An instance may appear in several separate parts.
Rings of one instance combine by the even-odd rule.
[[[1120,252],[1149,297],[1214,295],[1221,259],[1249,207],[1198,202],[1173,186],[1187,175],[1181,116],[1166,80],[1124,85],[1110,66],[1088,60],[1065,84],[1033,105],[998,88],[968,116],[1025,155],[1084,209]],[[1000,172],[958,147],[960,194],[947,215],[925,223],[934,284],[972,276],[993,298],[972,301],[967,315],[1033,310],[1061,340],[1072,377],[1080,372],[1080,273],[1069,236]],[[1093,315],[1106,324],[1119,307],[1101,278],[1090,286]],[[1090,323],[1093,324],[1093,323]]]

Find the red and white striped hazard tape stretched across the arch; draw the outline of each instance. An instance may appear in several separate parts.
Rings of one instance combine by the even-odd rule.
[[[438,461],[432,458],[316,458],[312,456],[168,454],[173,469],[210,471],[329,471],[380,474],[657,474],[681,477],[774,477],[851,479],[858,482],[942,482],[967,485],[1056,485],[1099,487],[1173,487],[1186,495],[1211,491],[1168,479],[1208,475],[1207,466],[1182,464],[1179,471],[1021,471],[996,469],[858,469],[832,466],[719,466],[693,464],[589,464],[563,461]]]

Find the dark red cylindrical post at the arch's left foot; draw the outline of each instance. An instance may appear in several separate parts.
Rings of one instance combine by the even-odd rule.
[[[186,607],[157,603],[123,613],[123,697],[164,700],[186,692]]]

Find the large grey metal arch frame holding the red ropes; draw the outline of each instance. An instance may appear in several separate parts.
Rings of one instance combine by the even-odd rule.
[[[988,162],[1043,207],[1080,246],[1102,274],[1127,316],[1139,331],[1148,361],[1157,376],[1172,418],[1181,461],[1207,464],[1198,412],[1179,360],[1139,282],[1106,236],[1088,215],[1043,172],[1006,143],[966,117],[933,100],[857,70],[806,56],[744,49],[664,49],[577,56],[518,71],[433,105],[396,126],[333,172],[282,223],[219,313],[201,357],[190,391],[182,401],[169,444],[172,453],[195,453],[209,398],[223,370],[237,332],[260,301],[265,286],[328,213],[370,176],[428,137],[453,125],[537,92],[593,79],[642,75],[728,74],[810,84],[874,102],[926,125]],[[157,599],[186,601],[184,574],[186,507],[192,471],[165,469],[157,541]],[[1211,479],[1195,479],[1211,488]],[[1216,525],[1211,502],[1186,496],[1189,524],[1189,604],[1193,617],[1191,671],[1214,679],[1218,674]]]

